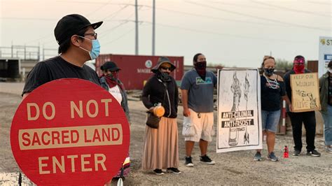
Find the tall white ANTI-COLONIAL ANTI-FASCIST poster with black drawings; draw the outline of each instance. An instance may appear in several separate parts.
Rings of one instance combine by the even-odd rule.
[[[216,152],[262,148],[260,80],[257,69],[218,71]]]

